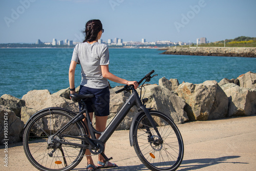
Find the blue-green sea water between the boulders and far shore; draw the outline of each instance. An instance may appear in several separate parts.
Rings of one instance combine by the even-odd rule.
[[[127,79],[140,80],[155,70],[151,84],[162,77],[191,83],[237,78],[248,71],[256,72],[256,58],[222,56],[162,55],[157,49],[110,49],[110,72]],[[34,48],[0,49],[0,96],[22,98],[30,90],[47,89],[55,93],[69,87],[69,65],[73,49]],[[81,81],[77,65],[75,87]],[[121,84],[110,81],[111,87]]]

